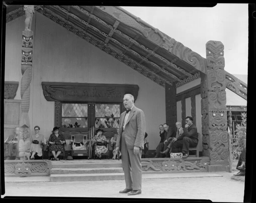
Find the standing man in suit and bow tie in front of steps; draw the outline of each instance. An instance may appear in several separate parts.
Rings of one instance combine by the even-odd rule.
[[[144,112],[134,106],[134,97],[125,94],[124,107],[127,109],[120,117],[120,133],[117,136],[116,150],[122,153],[122,167],[124,170],[124,190],[119,193],[128,195],[141,194],[142,164],[141,153],[144,149],[146,122]]]

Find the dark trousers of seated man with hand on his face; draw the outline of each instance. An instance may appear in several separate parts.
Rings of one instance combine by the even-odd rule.
[[[182,153],[189,153],[189,147],[196,147],[198,141],[189,137],[183,137],[182,140],[177,140],[172,143],[172,151],[177,152],[178,149],[182,148]],[[180,152],[180,150],[178,150]]]

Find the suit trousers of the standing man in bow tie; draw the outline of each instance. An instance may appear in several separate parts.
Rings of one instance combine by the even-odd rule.
[[[121,139],[122,166],[127,189],[141,190],[142,185],[142,149],[135,155],[133,149],[127,149],[125,138]]]

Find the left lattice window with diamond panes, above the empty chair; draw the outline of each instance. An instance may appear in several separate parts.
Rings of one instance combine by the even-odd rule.
[[[87,128],[88,105],[87,104],[62,104],[63,128]]]

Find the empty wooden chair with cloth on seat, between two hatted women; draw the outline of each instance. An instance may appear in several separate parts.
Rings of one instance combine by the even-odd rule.
[[[82,149],[75,149],[73,147],[73,144],[75,143],[81,143],[83,142],[86,144],[88,141],[87,135],[85,134],[74,134],[71,135],[71,142],[69,143],[71,145],[71,156],[89,156],[89,145],[86,144],[86,147]]]

